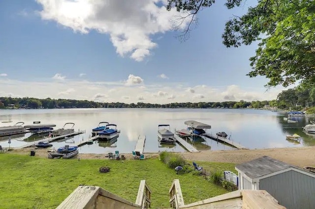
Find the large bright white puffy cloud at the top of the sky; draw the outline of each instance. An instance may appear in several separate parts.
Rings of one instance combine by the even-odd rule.
[[[167,11],[165,0],[36,1],[43,7],[39,11],[43,20],[56,21],[81,33],[96,30],[109,34],[116,52],[136,61],[142,61],[157,47],[150,36],[172,30],[176,16],[181,14],[176,9]],[[160,3],[164,5],[158,6]]]

